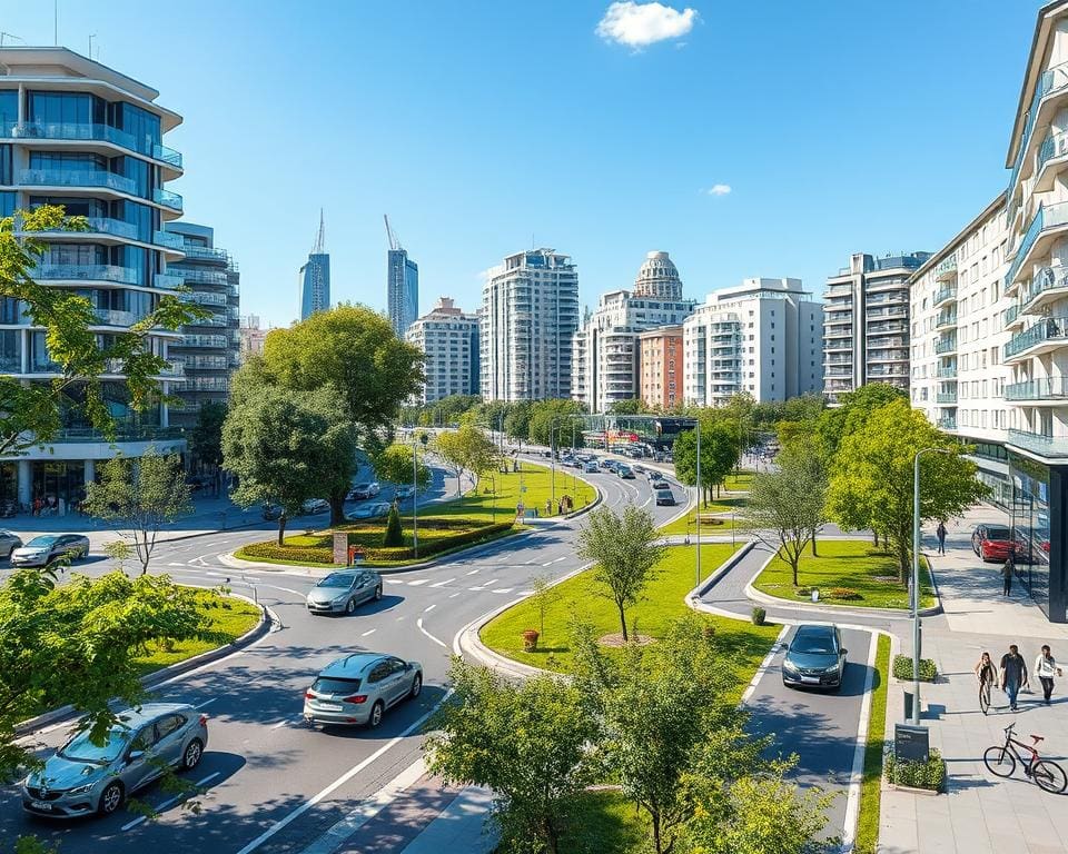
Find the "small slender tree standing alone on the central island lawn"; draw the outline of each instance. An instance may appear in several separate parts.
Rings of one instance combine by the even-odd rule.
[[[611,507],[593,510],[578,530],[575,553],[594,562],[593,579],[604,587],[620,614],[620,630],[626,634],[626,606],[636,603],[664,555],[652,515],[627,505],[622,515]]]

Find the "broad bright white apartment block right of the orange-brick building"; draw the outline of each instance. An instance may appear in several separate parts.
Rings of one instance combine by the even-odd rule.
[[[685,403],[718,406],[819,394],[823,307],[800,279],[745,279],[710,294],[682,325]]]

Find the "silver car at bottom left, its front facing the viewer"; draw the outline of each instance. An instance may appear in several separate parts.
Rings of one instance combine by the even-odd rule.
[[[184,703],[146,703],[118,714],[103,744],[77,733],[22,781],[22,808],[75,818],[111,815],[162,776],[167,765],[190,771],[208,744],[208,717]]]

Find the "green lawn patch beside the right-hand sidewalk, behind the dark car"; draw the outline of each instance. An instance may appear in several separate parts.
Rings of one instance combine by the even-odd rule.
[[[908,590],[898,584],[897,558],[876,550],[866,539],[821,539],[817,543],[819,557],[805,549],[798,567],[801,588],[815,587],[820,600],[833,605],[862,608],[908,608]],[[780,554],[778,559],[756,577],[753,586],[770,596],[784,599],[808,599],[808,594],[798,594],[793,586],[790,564]],[[849,589],[860,595],[859,599],[835,597],[832,590]],[[927,570],[927,562],[920,562],[920,607],[934,605],[934,590]]]

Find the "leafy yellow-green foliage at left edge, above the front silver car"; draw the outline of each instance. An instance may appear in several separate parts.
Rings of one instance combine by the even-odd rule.
[[[0,586],[0,779],[34,762],[19,722],[69,703],[102,737],[112,698],[145,699],[145,645],[202,636],[206,624],[194,590],[166,576],[75,575],[60,587],[48,572],[12,573]]]

